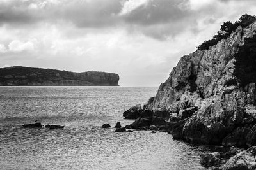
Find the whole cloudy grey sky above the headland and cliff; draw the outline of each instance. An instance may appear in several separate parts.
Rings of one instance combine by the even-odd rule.
[[[0,67],[117,73],[159,86],[182,55],[255,0],[0,0]]]

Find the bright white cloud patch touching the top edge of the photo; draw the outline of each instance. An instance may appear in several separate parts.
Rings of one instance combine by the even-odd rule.
[[[127,13],[130,13],[132,10],[135,10],[136,8],[140,6],[146,6],[149,0],[128,0],[125,1],[123,4],[123,8],[119,15],[126,15]]]

